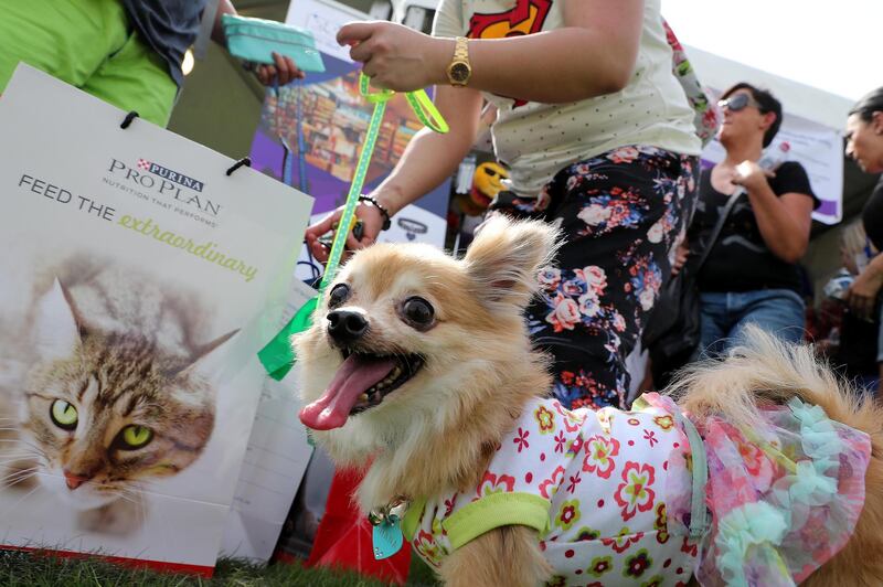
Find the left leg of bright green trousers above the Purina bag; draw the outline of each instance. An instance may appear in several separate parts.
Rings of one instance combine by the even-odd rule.
[[[0,0],[0,93],[19,62],[81,87],[127,38],[120,2]]]

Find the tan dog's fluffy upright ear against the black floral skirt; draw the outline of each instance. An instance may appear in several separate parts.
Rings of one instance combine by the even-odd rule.
[[[536,273],[554,256],[556,239],[557,231],[545,223],[492,216],[464,258],[475,296],[490,305],[526,306],[536,289]]]

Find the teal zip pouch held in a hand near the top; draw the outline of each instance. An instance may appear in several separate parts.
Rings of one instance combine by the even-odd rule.
[[[302,72],[322,73],[322,54],[316,49],[312,33],[272,20],[223,14],[221,25],[227,50],[234,57],[273,65],[273,52],[291,57]]]

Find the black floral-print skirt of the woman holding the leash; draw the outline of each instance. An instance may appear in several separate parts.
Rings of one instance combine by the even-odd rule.
[[[626,356],[671,275],[698,173],[696,157],[623,147],[561,170],[536,199],[502,192],[491,205],[564,235],[526,319],[554,357],[554,396],[565,407],[625,407]]]

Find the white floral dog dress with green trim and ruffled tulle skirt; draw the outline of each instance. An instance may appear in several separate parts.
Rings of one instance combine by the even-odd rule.
[[[631,412],[538,398],[478,487],[414,500],[402,531],[437,568],[494,527],[535,529],[555,586],[677,586],[693,574],[703,585],[794,585],[852,533],[870,440],[797,399],[764,416],[748,433],[712,418],[698,426],[702,446],[658,394]],[[694,462],[709,472],[698,491]],[[701,535],[694,494],[711,511]]]

